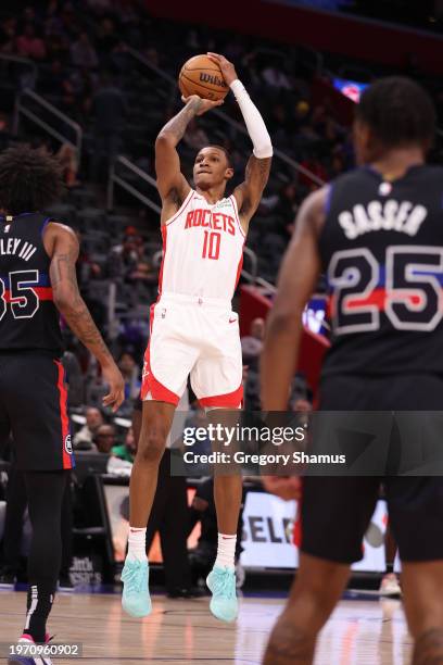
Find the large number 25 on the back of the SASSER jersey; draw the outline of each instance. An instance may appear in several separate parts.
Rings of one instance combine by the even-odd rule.
[[[397,330],[429,332],[443,318],[440,247],[388,247],[384,268],[367,248],[336,252],[328,280],[338,335],[378,330],[380,311]]]

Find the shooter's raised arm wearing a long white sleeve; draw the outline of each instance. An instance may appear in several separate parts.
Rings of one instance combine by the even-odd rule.
[[[249,221],[258,208],[263,190],[268,181],[273,143],[263,117],[239,80],[233,64],[217,53],[208,53],[208,57],[219,65],[225,81],[236,96],[254,147],[253,154],[248,161],[244,183],[235,190],[240,218],[246,230]]]

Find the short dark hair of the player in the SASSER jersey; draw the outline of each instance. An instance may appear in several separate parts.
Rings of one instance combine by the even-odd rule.
[[[387,148],[418,143],[425,149],[435,134],[435,108],[428,92],[410,78],[390,76],[367,88],[355,117],[368,125]]]

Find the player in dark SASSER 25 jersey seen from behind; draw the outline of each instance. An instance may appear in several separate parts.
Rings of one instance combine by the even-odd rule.
[[[434,128],[433,104],[414,81],[385,78],[364,92],[354,133],[362,166],[306,199],[282,263],[262,362],[266,411],[287,407],[302,312],[320,273],[328,279],[332,337],[319,409],[442,410],[443,168],[426,165]],[[409,423],[413,417],[417,424],[407,414]],[[430,417],[418,422],[420,435]],[[268,481],[284,499],[301,492],[302,540],[266,665],[313,662],[350,565],[363,556],[381,481],[402,560],[413,663],[443,663],[443,478],[385,475]]]

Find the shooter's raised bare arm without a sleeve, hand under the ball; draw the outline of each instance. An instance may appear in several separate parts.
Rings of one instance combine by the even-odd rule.
[[[191,120],[202,115],[221,101],[213,102],[192,95],[183,99],[186,105],[160,131],[155,141],[155,173],[159,193],[162,199],[162,224],[180,208],[189,193],[190,186],[180,171],[177,146],[185,136]]]

